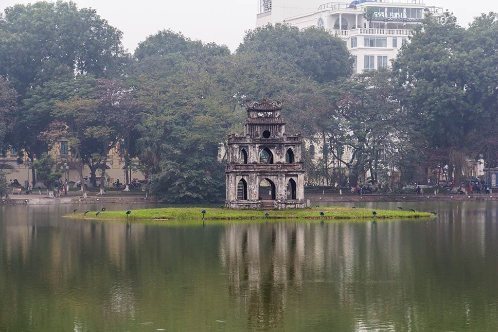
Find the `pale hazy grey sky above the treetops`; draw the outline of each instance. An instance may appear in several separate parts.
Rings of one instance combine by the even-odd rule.
[[[123,44],[130,52],[148,35],[162,29],[180,31],[203,42],[226,44],[234,51],[242,41],[244,31],[254,28],[257,3],[257,0],[73,1],[79,7],[95,8],[101,17],[123,31]],[[30,2],[35,1],[0,0],[0,9]],[[449,9],[464,26],[482,12],[498,12],[498,0],[425,0],[425,3]]]

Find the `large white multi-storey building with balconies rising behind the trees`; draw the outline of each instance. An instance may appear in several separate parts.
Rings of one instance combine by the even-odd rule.
[[[257,1],[256,27],[277,22],[300,29],[323,27],[346,41],[355,59],[355,73],[390,65],[426,13],[443,13],[442,8],[428,6],[423,0]],[[365,17],[367,12],[370,20]]]

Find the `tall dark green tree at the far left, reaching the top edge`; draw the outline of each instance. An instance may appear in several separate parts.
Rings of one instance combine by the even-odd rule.
[[[121,38],[122,32],[95,10],[79,9],[74,2],[39,1],[5,8],[0,15],[0,76],[16,89],[20,105],[18,120],[8,133],[10,144],[24,149],[31,161],[46,151],[46,142],[38,136],[53,120],[54,103],[43,104],[47,98],[33,92],[75,75],[123,73],[128,56]],[[59,98],[57,91],[53,93],[53,100]],[[35,182],[34,168],[32,172]]]

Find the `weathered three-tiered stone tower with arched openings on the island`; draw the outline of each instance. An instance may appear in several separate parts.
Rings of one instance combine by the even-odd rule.
[[[305,208],[301,136],[285,134],[280,102],[246,108],[244,136],[228,137],[227,207]]]

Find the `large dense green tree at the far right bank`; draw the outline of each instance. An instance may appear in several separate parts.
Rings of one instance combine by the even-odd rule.
[[[439,19],[427,16],[393,64],[406,91],[404,108],[427,147],[446,151],[456,186],[464,176],[473,132],[496,121],[498,77],[490,70],[497,63],[496,20],[495,14],[483,15],[465,30],[448,13]],[[487,37],[492,41],[481,39]]]

